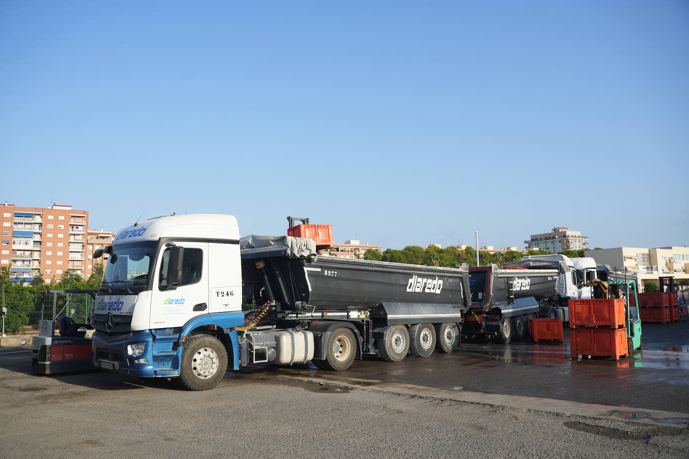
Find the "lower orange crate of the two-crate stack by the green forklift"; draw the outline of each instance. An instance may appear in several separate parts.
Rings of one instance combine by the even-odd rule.
[[[619,360],[629,354],[625,328],[575,328],[570,330],[569,344],[572,359],[590,355]]]

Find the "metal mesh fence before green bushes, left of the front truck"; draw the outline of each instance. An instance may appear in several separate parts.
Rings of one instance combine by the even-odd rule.
[[[39,321],[69,316],[76,323],[88,323],[96,290],[45,290],[5,295],[8,334],[38,330]]]

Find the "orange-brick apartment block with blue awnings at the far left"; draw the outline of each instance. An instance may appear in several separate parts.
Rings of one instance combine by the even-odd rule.
[[[12,281],[61,279],[72,268],[85,275],[88,211],[53,204],[47,209],[0,204],[0,267]]]

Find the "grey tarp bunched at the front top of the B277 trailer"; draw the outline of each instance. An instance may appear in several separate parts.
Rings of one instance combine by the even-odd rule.
[[[316,260],[316,241],[305,237],[251,234],[239,239],[239,248],[243,258],[286,255],[307,259],[309,263]]]

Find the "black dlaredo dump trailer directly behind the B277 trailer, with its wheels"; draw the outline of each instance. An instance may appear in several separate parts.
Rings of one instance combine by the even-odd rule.
[[[531,317],[555,317],[559,305],[559,270],[469,268],[471,308],[464,314],[462,335],[482,335],[509,343],[528,332]]]

